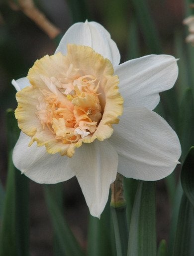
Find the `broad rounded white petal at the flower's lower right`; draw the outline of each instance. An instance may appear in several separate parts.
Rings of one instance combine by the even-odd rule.
[[[181,155],[177,134],[153,111],[125,109],[110,137],[118,155],[118,172],[128,178],[160,180],[172,173]]]

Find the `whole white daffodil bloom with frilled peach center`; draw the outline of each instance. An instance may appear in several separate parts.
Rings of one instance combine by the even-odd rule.
[[[12,81],[21,129],[14,165],[38,183],[76,176],[96,217],[117,172],[159,180],[171,174],[181,155],[176,133],[152,111],[159,92],[177,79],[176,59],[119,61],[106,29],[86,21],[71,26],[55,54],[37,60],[27,78]]]

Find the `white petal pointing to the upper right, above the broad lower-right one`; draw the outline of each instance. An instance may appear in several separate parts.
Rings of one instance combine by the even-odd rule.
[[[124,107],[153,110],[160,101],[159,92],[173,87],[178,76],[177,60],[170,55],[148,55],[129,60],[115,68]]]

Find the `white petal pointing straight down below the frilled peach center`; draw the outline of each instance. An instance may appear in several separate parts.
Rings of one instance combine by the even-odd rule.
[[[100,217],[108,200],[110,184],[116,178],[118,155],[104,140],[83,144],[72,158],[75,170],[91,215]]]

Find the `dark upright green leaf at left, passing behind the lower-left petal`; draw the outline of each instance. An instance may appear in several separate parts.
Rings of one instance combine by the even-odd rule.
[[[20,130],[12,109],[7,110],[8,148],[12,149]],[[11,160],[10,160],[11,161]],[[10,163],[11,165],[12,163]],[[14,168],[15,188],[15,241],[17,256],[29,255],[29,179]],[[12,188],[13,189],[13,188]]]

